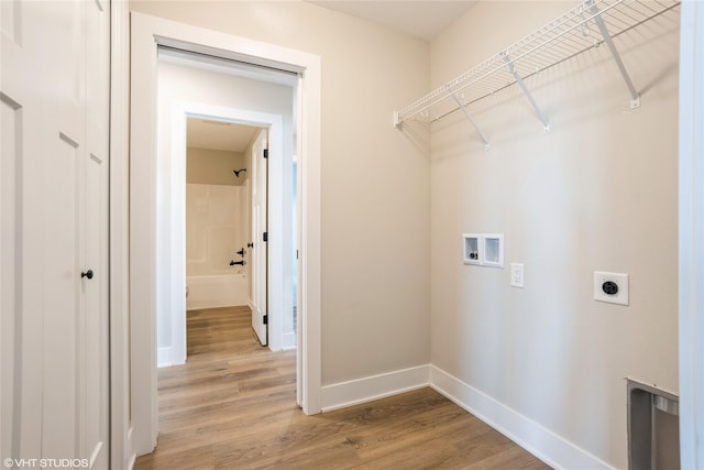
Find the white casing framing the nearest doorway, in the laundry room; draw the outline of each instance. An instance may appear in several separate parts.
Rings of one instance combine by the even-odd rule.
[[[240,57],[299,74],[297,156],[299,187],[298,397],[306,414],[320,413],[320,57],[287,47],[131,13],[130,397],[134,448],[156,446],[156,79],[157,46],[175,41],[226,58]],[[301,337],[302,336],[302,337]],[[118,351],[120,352],[120,351]]]

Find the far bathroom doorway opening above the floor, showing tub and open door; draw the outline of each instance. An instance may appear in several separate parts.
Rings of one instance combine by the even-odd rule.
[[[183,314],[249,307],[250,324],[266,346],[267,253],[257,237],[266,227],[257,226],[267,220],[266,174],[260,175],[265,161],[260,154],[268,129],[222,119],[187,118]]]

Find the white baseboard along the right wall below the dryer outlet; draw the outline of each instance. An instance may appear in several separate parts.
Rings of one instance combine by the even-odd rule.
[[[608,463],[449,373],[430,365],[430,386],[553,468],[612,469]]]

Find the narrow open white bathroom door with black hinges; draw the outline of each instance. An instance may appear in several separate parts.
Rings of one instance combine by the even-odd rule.
[[[252,328],[267,345],[267,132],[260,131],[252,145]]]

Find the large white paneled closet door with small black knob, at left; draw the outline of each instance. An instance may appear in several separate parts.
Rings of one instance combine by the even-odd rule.
[[[110,6],[0,3],[0,456],[106,469]]]

